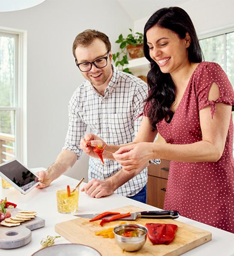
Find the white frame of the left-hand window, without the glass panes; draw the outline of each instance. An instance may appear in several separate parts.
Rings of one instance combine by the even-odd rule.
[[[0,27],[0,35],[15,38],[14,106],[0,111],[15,111],[15,157],[27,165],[27,31]]]

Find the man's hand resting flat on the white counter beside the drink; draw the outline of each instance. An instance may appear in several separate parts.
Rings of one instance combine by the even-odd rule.
[[[95,198],[110,196],[114,192],[113,185],[108,179],[105,181],[92,179],[80,191],[85,191],[87,195]]]

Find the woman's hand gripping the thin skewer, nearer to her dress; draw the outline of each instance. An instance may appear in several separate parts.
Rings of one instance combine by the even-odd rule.
[[[152,143],[140,142],[119,148],[113,157],[129,173],[145,168],[152,158]]]

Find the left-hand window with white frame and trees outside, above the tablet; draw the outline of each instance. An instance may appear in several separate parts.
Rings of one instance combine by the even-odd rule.
[[[0,163],[13,158],[26,162],[25,39],[25,31],[0,28]]]

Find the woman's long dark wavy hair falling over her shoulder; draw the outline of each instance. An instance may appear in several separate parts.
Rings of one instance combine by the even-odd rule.
[[[174,31],[181,39],[184,39],[188,32],[191,38],[191,43],[188,47],[189,61],[193,63],[200,63],[202,61],[198,37],[187,12],[179,7],[162,8],[149,18],[144,28],[144,54],[150,61],[151,69],[147,75],[149,95],[145,99],[144,112],[150,119],[153,130],[156,129],[156,124],[163,120],[164,117],[172,117],[173,112],[170,108],[173,102],[175,102],[175,84],[172,81],[171,75],[161,72],[160,67],[149,55],[146,32],[156,24],[159,27]]]

